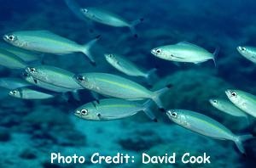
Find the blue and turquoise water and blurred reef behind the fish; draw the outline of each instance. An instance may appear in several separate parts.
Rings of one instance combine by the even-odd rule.
[[[237,88],[256,94],[256,65],[241,57],[239,45],[256,46],[256,2],[253,0],[77,0],[81,7],[101,7],[127,20],[144,18],[137,25],[138,38],[128,28],[116,28],[79,20],[64,0],[0,0],[1,35],[11,31],[49,30],[75,42],[84,43],[97,35],[102,38],[92,48],[97,66],[92,66],[82,53],[44,54],[44,64],[74,73],[107,72],[124,76],[147,86],[143,80],[114,70],[103,53],[119,53],[149,70],[157,67],[159,79],[153,90],[172,83],[161,99],[167,109],[190,109],[223,123],[232,132],[256,133],[256,124],[226,115],[209,104],[209,98],[225,98],[224,91]],[[217,66],[213,61],[200,65],[181,64],[158,59],[152,48],[192,42],[213,53],[219,47]],[[3,42],[3,40],[2,40]],[[0,77],[19,77],[21,70],[0,67]],[[158,122],[143,113],[123,120],[89,121],[73,115],[79,105],[93,100],[89,92],[79,92],[81,102],[61,98],[22,100],[1,91],[0,167],[110,167],[112,165],[54,165],[50,153],[78,154],[94,152],[137,156],[132,165],[117,167],[253,167],[256,165],[256,141],[244,143],[244,157],[231,141],[219,141],[189,132],[174,124],[156,108]],[[139,156],[166,153],[211,155],[210,165],[143,165]],[[87,155],[86,155],[87,154]],[[88,158],[87,157],[87,158]]]

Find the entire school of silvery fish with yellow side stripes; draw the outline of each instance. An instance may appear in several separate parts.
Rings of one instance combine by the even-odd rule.
[[[113,27],[126,27],[131,30],[133,36],[138,37],[135,27],[142,23],[143,19],[129,21],[103,8],[80,8],[72,0],[65,2],[80,20],[90,20]],[[103,72],[73,73],[42,63],[44,53],[65,57],[65,54],[79,52],[84,53],[92,65],[96,65],[98,63],[90,50],[97,45],[99,39],[100,36],[96,36],[85,44],[79,44],[47,30],[7,32],[3,35],[5,42],[0,43],[0,65],[8,69],[20,70],[22,74],[20,78],[1,78],[0,87],[5,88],[8,91],[7,95],[14,98],[61,97],[68,100],[67,93],[72,93],[73,98],[78,101],[79,91],[88,90],[94,100],[74,110],[74,115],[83,120],[119,120],[143,111],[149,120],[157,121],[155,112],[150,108],[151,105],[156,105],[159,112],[164,112],[177,125],[206,137],[233,141],[241,153],[245,154],[242,143],[253,138],[253,135],[237,136],[217,120],[188,109],[166,109],[162,104],[161,96],[172,90],[172,84],[153,91],[125,78],[125,76],[136,76],[152,85],[157,79],[155,68],[144,70],[119,53],[104,53],[102,58],[124,76]],[[238,46],[236,49],[245,59],[256,64],[256,47]],[[148,48],[148,53],[174,63],[201,64],[212,60],[216,64],[218,48],[211,53],[193,43],[177,42]],[[227,115],[247,120],[247,124],[250,125],[250,120],[256,118],[256,96],[238,89],[228,89],[224,93],[226,99],[212,98],[209,103]],[[107,98],[101,98],[100,95]]]

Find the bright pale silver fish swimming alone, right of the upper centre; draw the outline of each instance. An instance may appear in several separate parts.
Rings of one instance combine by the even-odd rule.
[[[216,66],[215,57],[218,54],[218,48],[216,48],[214,53],[210,53],[205,48],[201,48],[195,44],[178,42],[173,45],[153,48],[151,53],[160,59],[183,63],[201,64],[202,62],[212,59]]]

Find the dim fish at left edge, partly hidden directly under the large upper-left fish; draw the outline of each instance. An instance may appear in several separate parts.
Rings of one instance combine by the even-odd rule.
[[[0,48],[5,49],[9,53],[14,53],[17,57],[24,60],[26,63],[41,61],[43,58],[43,54],[27,51],[22,48],[16,48],[3,42],[0,43]]]

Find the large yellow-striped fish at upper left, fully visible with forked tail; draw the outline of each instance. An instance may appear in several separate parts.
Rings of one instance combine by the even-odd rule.
[[[41,53],[53,53],[58,55],[81,52],[90,59],[90,63],[96,62],[90,54],[90,48],[98,41],[100,36],[80,45],[51,31],[15,31],[3,35],[3,40],[18,48],[24,48]]]

